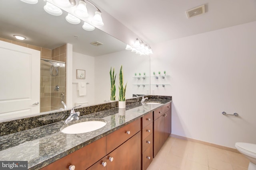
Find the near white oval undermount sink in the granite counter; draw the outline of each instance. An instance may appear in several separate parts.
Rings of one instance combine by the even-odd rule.
[[[79,120],[80,121],[80,120]],[[60,128],[62,133],[78,134],[95,131],[104,127],[107,123],[103,119],[86,119],[80,122],[70,122],[68,125],[64,125]],[[71,125],[70,125],[71,124]]]

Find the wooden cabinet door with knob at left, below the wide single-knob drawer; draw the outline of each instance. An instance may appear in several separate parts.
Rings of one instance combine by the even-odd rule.
[[[110,158],[113,158],[112,162]],[[140,170],[141,132],[107,155],[107,170]]]

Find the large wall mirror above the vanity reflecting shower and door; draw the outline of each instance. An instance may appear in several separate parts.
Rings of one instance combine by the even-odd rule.
[[[126,51],[125,43],[100,29],[86,31],[82,29],[82,22],[76,25],[68,23],[65,20],[67,13],[64,11],[61,16],[52,16],[46,13],[44,11],[45,4],[46,2],[43,0],[38,1],[37,4],[9,0],[0,6],[0,40],[4,42],[0,48],[0,63],[6,63],[2,64],[5,67],[4,70],[1,70],[1,80],[12,84],[12,87],[9,86],[8,89],[5,88],[7,85],[1,86],[0,89],[0,106],[4,108],[2,109],[4,111],[0,112],[0,122],[28,117],[28,114],[35,115],[39,112],[40,114],[56,112],[59,109],[64,109],[62,102],[70,107],[109,102],[110,68],[112,71],[115,70],[116,100],[118,100],[118,79],[121,65],[123,66],[124,82],[127,82],[126,98],[132,98],[132,94],[150,94],[150,58],[148,56],[140,56]],[[26,39],[24,41],[17,40],[13,35],[22,35]],[[95,45],[93,42],[100,42],[102,45]],[[7,46],[14,45],[12,48],[17,47],[18,50],[12,49],[12,53],[6,55],[6,46],[4,46],[6,43],[8,43]],[[71,63],[67,62],[67,57],[70,57],[67,54],[67,44],[72,45],[72,51],[69,51],[72,54]],[[20,47],[40,51],[40,54],[37,54],[40,57],[35,61],[36,64],[31,62],[32,52],[22,51],[23,49],[19,49]],[[19,60],[11,59],[10,56],[13,56],[13,53],[16,54],[17,51],[26,55]],[[22,56],[20,53],[16,55]],[[7,57],[9,61],[6,61]],[[17,67],[15,63],[20,66]],[[68,96],[66,95],[66,68],[70,66],[72,68],[72,80],[70,80],[72,81],[72,95]],[[39,73],[32,72],[30,67],[37,67]],[[24,72],[17,71],[17,69]],[[22,77],[26,73],[30,73],[30,78]],[[84,75],[78,78],[78,74]],[[35,75],[38,77],[35,78]],[[9,78],[6,78],[8,76]],[[37,91],[30,91],[28,95],[40,94],[38,101],[31,101],[30,104],[39,106],[39,110],[36,113],[31,113],[30,110],[26,110],[24,113],[8,110],[19,104],[8,103],[9,98],[15,97],[7,95],[6,92],[16,94],[20,91],[29,91],[32,89],[31,83],[22,87],[21,82],[31,82],[34,79],[38,80]],[[4,95],[5,97],[3,97]],[[67,101],[72,102],[67,104]]]

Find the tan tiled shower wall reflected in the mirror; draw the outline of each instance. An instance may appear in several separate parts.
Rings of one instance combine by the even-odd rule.
[[[62,45],[55,49],[46,49],[18,41],[12,41],[0,37],[1,41],[13,43],[30,49],[35,49],[41,52],[41,59],[62,61],[66,63],[66,45]],[[65,67],[66,68],[66,67]],[[59,68],[59,74],[55,77],[50,76],[50,67],[41,68],[40,82],[40,112],[51,111],[64,108],[60,100],[60,94],[64,93],[64,102],[66,103],[66,69]],[[54,91],[56,85],[60,86],[59,91]]]

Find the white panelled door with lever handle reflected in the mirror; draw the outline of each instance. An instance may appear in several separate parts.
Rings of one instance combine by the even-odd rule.
[[[40,51],[0,41],[0,81],[0,121],[40,112]]]

